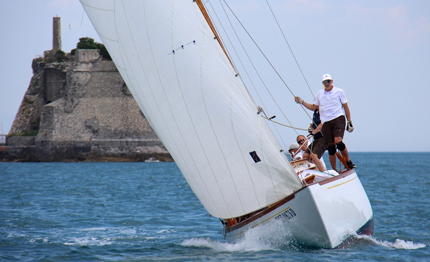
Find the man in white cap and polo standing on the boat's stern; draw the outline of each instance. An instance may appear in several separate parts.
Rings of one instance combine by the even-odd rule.
[[[328,144],[328,154],[332,168],[336,170],[336,148],[342,153],[348,168],[355,168],[354,163],[349,158],[348,149],[342,141],[345,124],[348,132],[354,130],[345,92],[333,86],[333,78],[329,74],[323,75],[322,82],[324,89],[318,91],[313,104],[306,103],[298,96],[294,100],[309,110],[319,109],[321,123],[323,124],[323,137],[326,144]]]

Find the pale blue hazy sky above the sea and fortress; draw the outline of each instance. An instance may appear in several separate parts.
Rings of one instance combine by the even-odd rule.
[[[344,137],[349,151],[430,151],[426,135],[430,129],[426,111],[430,97],[430,1],[268,2],[309,87],[267,2],[227,1],[286,83],[279,81],[273,70],[261,69],[292,125],[307,128],[310,121],[305,110],[294,103],[294,95],[312,102],[312,93],[322,87],[321,76],[328,73],[334,85],[345,91],[351,109],[355,130]],[[211,12],[212,4],[216,9],[219,1],[206,4]],[[9,132],[30,83],[32,59],[52,49],[52,17],[57,15],[61,17],[65,52],[75,48],[80,37],[101,42],[78,0],[0,2],[3,133]],[[258,56],[255,48],[251,53]],[[265,63],[261,56],[255,61]],[[276,110],[274,114],[276,120],[285,122]],[[286,147],[295,141],[297,133],[278,130]]]

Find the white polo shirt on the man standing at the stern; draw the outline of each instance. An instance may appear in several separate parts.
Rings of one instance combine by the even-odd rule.
[[[345,92],[337,87],[333,87],[331,91],[325,91],[325,89],[318,91],[314,99],[314,104],[319,106],[320,118],[323,124],[345,115],[343,104],[346,102]]]

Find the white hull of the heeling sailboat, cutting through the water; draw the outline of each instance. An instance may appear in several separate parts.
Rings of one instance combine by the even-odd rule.
[[[225,227],[226,237],[237,239],[272,219],[283,219],[298,242],[322,248],[338,247],[352,232],[373,232],[372,207],[354,170],[307,186],[258,216]]]

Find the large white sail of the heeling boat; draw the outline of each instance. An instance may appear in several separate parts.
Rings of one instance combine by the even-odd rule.
[[[80,1],[211,215],[241,216],[301,188],[195,1]]]

